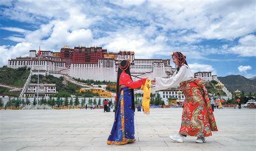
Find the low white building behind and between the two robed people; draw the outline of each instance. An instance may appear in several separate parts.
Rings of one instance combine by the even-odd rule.
[[[182,93],[182,91],[181,91],[181,95],[180,95],[180,99],[179,99],[178,91],[181,91],[181,89],[166,89],[166,90],[157,91],[157,93],[164,100],[166,105],[167,104],[170,105],[168,98],[170,98],[172,96],[177,98],[177,103],[183,103],[185,101],[185,96]]]

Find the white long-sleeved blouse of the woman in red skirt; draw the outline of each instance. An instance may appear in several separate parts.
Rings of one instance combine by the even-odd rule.
[[[178,73],[170,78],[156,77],[156,91],[177,87],[179,83],[191,80],[193,77],[190,68],[184,64],[180,67]]]

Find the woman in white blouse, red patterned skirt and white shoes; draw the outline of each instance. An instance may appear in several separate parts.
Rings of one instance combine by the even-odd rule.
[[[152,82],[156,84],[156,91],[176,87],[179,84],[185,95],[179,133],[170,135],[170,138],[183,142],[184,136],[196,136],[196,142],[203,143],[206,136],[212,135],[212,131],[218,131],[207,90],[203,81],[194,78],[185,55],[181,52],[173,52],[171,56],[177,67],[176,74],[170,78],[156,77]]]

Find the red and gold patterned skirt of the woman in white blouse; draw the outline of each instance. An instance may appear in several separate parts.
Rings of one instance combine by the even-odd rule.
[[[201,80],[193,78],[180,83],[185,104],[179,133],[190,136],[210,136],[218,131],[207,90]]]

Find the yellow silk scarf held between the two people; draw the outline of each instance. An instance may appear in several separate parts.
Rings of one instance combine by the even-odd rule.
[[[143,99],[142,109],[145,114],[150,113],[150,93],[151,93],[151,80],[147,79],[145,84],[142,85]]]

